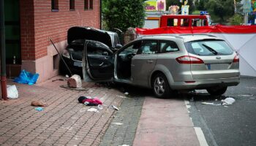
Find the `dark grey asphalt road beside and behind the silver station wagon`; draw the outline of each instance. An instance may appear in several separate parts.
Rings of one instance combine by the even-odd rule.
[[[219,105],[227,97],[236,101]],[[256,145],[256,78],[241,78],[241,83],[227,88],[224,96],[210,96],[201,90],[187,94],[185,99],[191,105],[189,115],[195,127],[202,128],[208,145]]]

